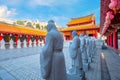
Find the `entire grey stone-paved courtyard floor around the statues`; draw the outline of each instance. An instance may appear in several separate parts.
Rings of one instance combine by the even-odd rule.
[[[41,80],[40,50],[41,47],[0,50],[0,80]],[[63,52],[68,70],[71,66],[71,59],[66,46]],[[97,50],[90,69],[86,72],[87,80],[101,80],[101,53],[105,57],[111,80],[120,80],[120,56],[111,50],[101,49]],[[70,80],[74,80],[72,78]]]

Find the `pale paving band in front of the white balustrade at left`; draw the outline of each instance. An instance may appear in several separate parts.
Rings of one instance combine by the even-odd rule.
[[[16,49],[0,49],[0,62],[15,59],[23,56],[35,55],[40,53],[41,47],[16,48]]]

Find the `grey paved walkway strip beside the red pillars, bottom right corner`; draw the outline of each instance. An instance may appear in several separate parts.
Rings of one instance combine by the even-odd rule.
[[[102,52],[107,63],[111,80],[120,80],[120,56],[110,48]]]

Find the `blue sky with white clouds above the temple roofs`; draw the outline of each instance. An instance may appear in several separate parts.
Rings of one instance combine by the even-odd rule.
[[[0,0],[0,17],[14,20],[53,19],[66,27],[71,18],[93,13],[100,22],[100,0]]]

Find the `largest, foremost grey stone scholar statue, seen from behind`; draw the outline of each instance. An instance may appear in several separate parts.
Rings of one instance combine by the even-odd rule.
[[[45,80],[67,80],[63,36],[54,21],[48,21],[46,43],[40,54],[41,76]]]

